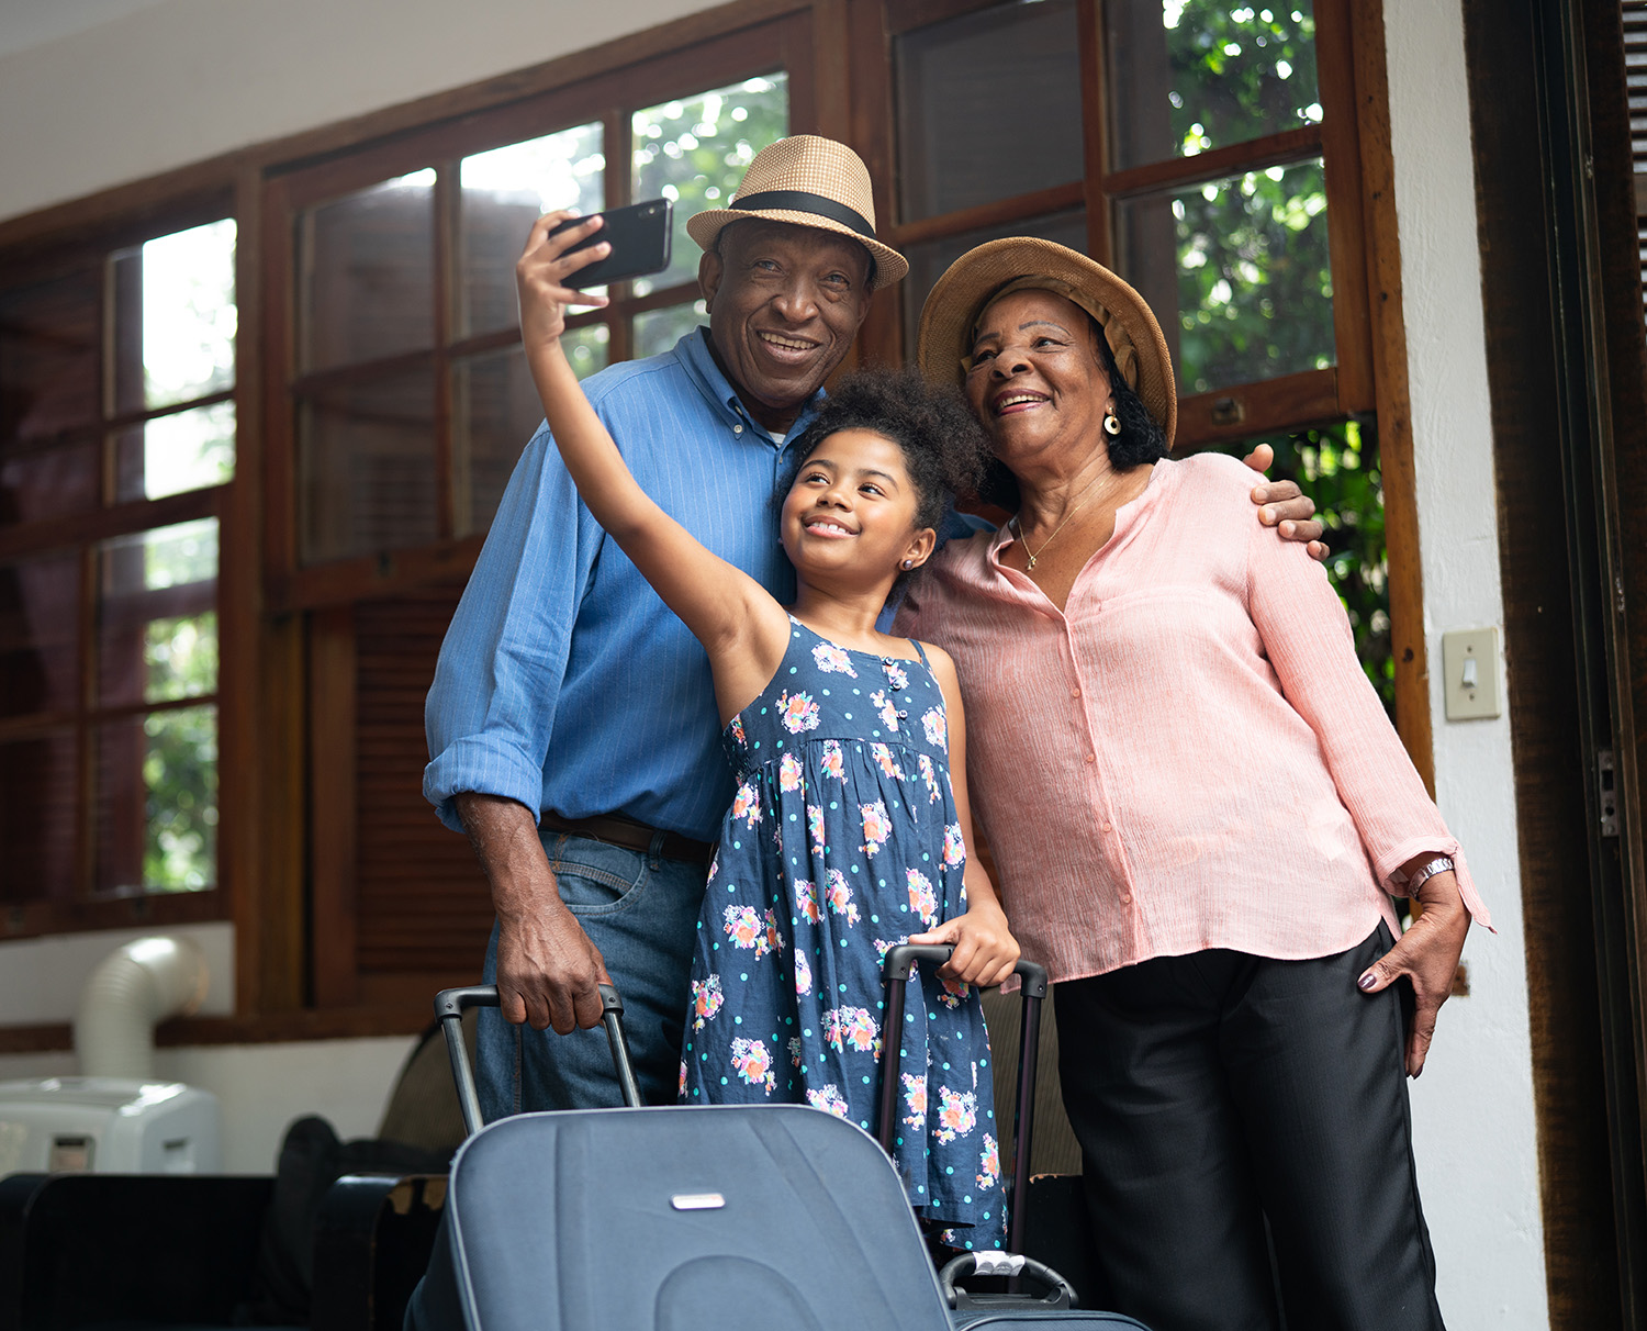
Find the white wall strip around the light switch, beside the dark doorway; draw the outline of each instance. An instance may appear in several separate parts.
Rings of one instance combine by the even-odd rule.
[[[1441,700],[1441,634],[1504,624],[1463,20],[1458,0],[1385,0],[1385,26],[1436,801],[1499,931],[1466,946],[1471,995],[1441,1011],[1413,1133],[1448,1326],[1542,1328],[1510,722],[1448,722]]]

